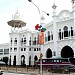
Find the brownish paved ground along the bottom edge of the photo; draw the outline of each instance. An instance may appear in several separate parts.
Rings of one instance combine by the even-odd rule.
[[[39,69],[28,69],[27,68],[13,68],[13,67],[1,67],[1,69],[4,71],[3,75],[40,75]],[[68,73],[68,74],[60,74],[60,73],[51,73],[47,70],[43,71],[42,75],[75,75],[74,73]]]

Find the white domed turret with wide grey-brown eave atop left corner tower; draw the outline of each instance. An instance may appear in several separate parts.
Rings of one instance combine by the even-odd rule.
[[[22,27],[26,26],[26,23],[21,20],[21,17],[20,17],[20,14],[19,14],[18,10],[15,13],[15,15],[12,17],[12,20],[8,21],[7,23],[8,23],[9,26],[14,27],[14,29],[16,27],[22,28]]]

